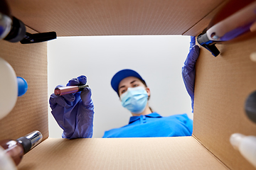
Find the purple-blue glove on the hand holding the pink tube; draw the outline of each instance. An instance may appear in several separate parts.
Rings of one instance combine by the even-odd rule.
[[[68,81],[67,86],[80,86],[86,82],[86,77],[80,76]],[[63,85],[58,85],[56,88],[60,86]],[[94,106],[91,96],[92,92],[89,87],[75,94],[50,95],[51,113],[63,129],[63,138],[92,137]]]

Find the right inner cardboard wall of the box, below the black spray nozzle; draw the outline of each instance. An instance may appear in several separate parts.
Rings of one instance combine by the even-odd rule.
[[[254,169],[230,145],[235,132],[256,135],[245,113],[247,96],[256,90],[256,38],[217,45],[218,57],[201,47],[196,63],[193,136],[231,169]]]

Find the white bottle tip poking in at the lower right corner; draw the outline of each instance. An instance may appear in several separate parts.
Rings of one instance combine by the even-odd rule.
[[[256,168],[256,137],[245,136],[240,133],[234,133],[230,137],[230,143],[240,151],[245,159]]]

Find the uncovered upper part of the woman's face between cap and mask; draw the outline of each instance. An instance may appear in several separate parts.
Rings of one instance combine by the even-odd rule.
[[[124,92],[127,91],[128,88],[134,88],[137,86],[145,87],[148,96],[150,96],[149,88],[146,87],[142,83],[142,81],[140,81],[137,77],[126,77],[126,78],[122,79],[122,81],[120,81],[119,86],[118,86],[119,96],[124,94]]]

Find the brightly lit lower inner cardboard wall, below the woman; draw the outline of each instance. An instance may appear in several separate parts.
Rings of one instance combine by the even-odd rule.
[[[48,138],[25,155],[32,169],[226,169],[193,137]]]

